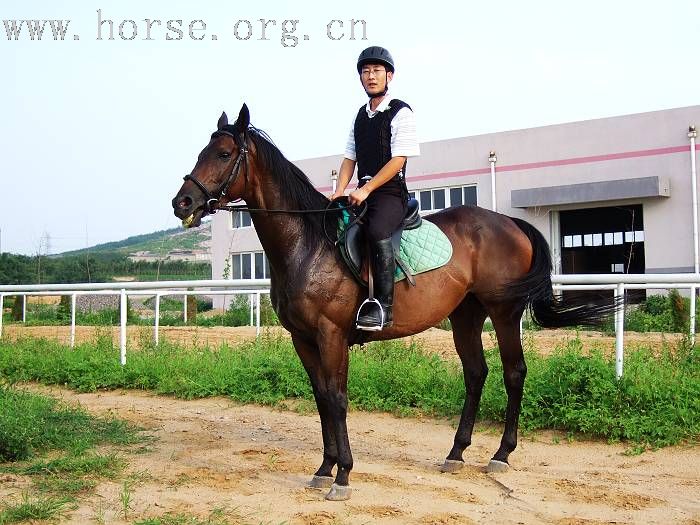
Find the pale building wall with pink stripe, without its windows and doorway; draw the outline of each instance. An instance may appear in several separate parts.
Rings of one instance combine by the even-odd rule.
[[[409,190],[477,185],[478,205],[491,207],[488,155],[495,151],[498,211],[535,225],[553,248],[551,222],[560,210],[643,204],[648,272],[692,271],[690,124],[700,125],[700,106],[490,133],[421,144],[409,159]],[[330,194],[330,175],[342,155],[295,162],[319,191]],[[670,197],[513,208],[511,191],[606,180],[658,176],[670,181]],[[259,251],[252,228],[231,228],[229,214],[212,227],[213,276],[229,253]]]

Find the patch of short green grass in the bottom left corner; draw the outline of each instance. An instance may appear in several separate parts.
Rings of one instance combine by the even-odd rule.
[[[97,446],[147,438],[112,418],[98,418],[53,398],[0,384],[0,473],[28,477],[30,490],[0,503],[0,525],[57,520],[102,479],[117,478],[126,460]]]

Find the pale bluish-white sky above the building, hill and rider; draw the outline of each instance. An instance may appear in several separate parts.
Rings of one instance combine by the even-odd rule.
[[[182,176],[243,102],[290,160],[342,154],[370,45],[391,51],[421,142],[700,103],[697,1],[3,0],[0,15],[3,252],[178,226]],[[70,22],[63,40],[48,23],[15,40],[13,20]]]

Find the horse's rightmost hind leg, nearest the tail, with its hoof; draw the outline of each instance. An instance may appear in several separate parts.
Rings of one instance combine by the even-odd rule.
[[[498,339],[498,348],[503,363],[503,383],[508,394],[506,425],[501,446],[489,462],[488,471],[498,472],[508,468],[508,456],[518,444],[518,419],[523,399],[523,386],[527,367],[520,341],[520,318],[522,307],[500,304],[488,308]]]

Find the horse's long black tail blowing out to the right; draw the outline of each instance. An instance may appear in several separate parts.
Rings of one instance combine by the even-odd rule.
[[[537,228],[522,219],[511,220],[527,235],[532,245],[532,263],[526,275],[508,283],[501,297],[522,303],[530,308],[533,320],[545,328],[587,325],[599,326],[615,311],[617,302],[612,297],[587,297],[563,300],[552,290],[552,257],[549,244]]]

